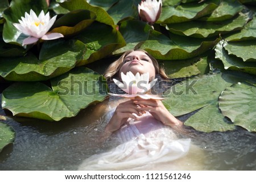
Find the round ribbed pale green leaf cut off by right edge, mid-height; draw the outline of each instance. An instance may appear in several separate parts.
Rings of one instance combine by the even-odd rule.
[[[256,87],[234,84],[226,88],[219,97],[219,107],[223,115],[234,125],[248,131],[256,131]]]

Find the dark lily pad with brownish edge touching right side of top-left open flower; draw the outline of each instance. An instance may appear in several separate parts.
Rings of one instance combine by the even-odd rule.
[[[96,14],[88,10],[75,10],[67,13],[57,19],[51,32],[57,32],[62,35],[70,36],[77,34],[84,28],[90,26],[96,19]]]

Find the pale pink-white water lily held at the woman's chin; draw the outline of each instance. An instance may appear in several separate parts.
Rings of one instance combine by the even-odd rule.
[[[141,97],[143,99],[154,99],[154,100],[163,100],[158,96],[147,94],[148,90],[154,86],[157,78],[149,82],[149,73],[143,73],[140,75],[137,73],[133,75],[131,72],[127,72],[126,75],[121,72],[122,82],[116,79],[113,79],[116,85],[125,91],[127,94],[111,94],[112,96],[121,96],[127,98]]]

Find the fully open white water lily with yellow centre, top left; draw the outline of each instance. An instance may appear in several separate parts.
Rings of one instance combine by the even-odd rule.
[[[49,12],[44,15],[42,10],[39,16],[36,16],[33,10],[30,10],[30,14],[25,13],[25,18],[21,17],[19,23],[13,23],[13,25],[21,31],[23,34],[29,37],[23,40],[23,46],[27,44],[33,44],[39,39],[43,40],[53,40],[63,38],[64,36],[59,33],[46,34],[48,30],[52,27],[56,20],[57,15],[50,19]]]

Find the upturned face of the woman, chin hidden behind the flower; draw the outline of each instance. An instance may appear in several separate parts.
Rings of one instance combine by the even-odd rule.
[[[119,73],[132,72],[134,75],[139,72],[141,74],[149,72],[150,80],[155,78],[155,67],[150,57],[143,51],[133,51],[123,59],[123,65]]]

